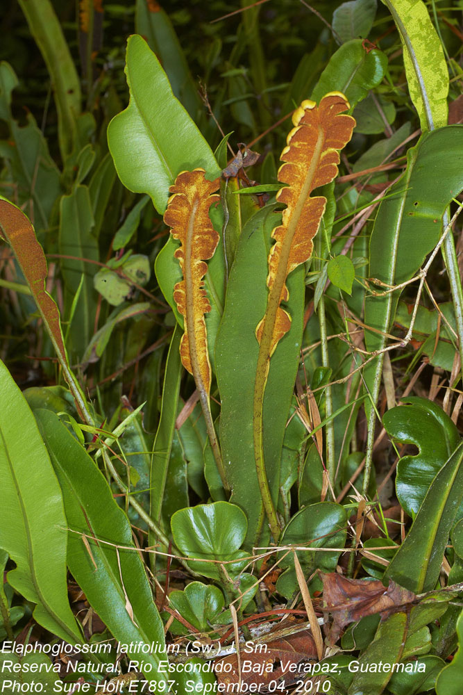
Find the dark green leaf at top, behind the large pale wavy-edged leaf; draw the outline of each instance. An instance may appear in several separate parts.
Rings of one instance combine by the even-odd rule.
[[[158,4],[137,0],[135,31],[146,38],[167,73],[174,95],[196,120],[202,108],[198,88],[169,16]]]

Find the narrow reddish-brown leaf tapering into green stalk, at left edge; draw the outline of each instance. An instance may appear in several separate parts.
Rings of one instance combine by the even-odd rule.
[[[47,279],[47,261],[42,246],[37,241],[34,228],[26,215],[8,200],[0,197],[0,238],[12,248],[19,267],[26,278],[28,286],[40,311],[40,316],[56,351],[69,389],[74,396],[78,414],[87,423],[92,418],[87,411],[85,397],[76,382],[69,363],[65,343],[62,339],[60,312],[53,298],[45,290]]]

